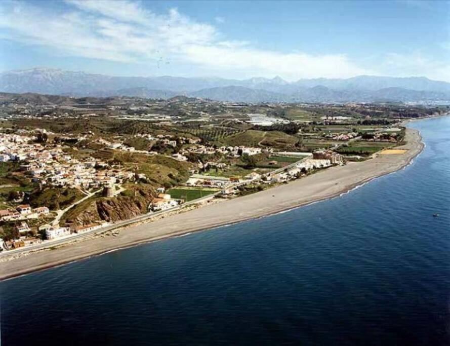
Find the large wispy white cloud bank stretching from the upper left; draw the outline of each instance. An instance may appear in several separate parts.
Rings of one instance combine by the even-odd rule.
[[[227,40],[213,25],[194,21],[177,9],[156,14],[128,0],[66,0],[66,5],[65,12],[49,16],[30,4],[3,2],[0,29],[8,30],[10,40],[63,54],[120,62],[170,59],[222,75],[296,80],[374,74],[345,54],[282,53]]]

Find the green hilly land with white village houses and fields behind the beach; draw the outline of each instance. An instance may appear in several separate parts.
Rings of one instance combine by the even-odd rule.
[[[286,105],[134,102],[58,107],[4,101],[1,250],[51,244],[142,215],[257,193],[317,170],[370,160],[401,144],[404,133],[399,119],[336,115],[336,109],[354,112],[355,105],[333,112],[308,105],[314,115],[305,120],[287,117]],[[143,114],[163,105],[172,110]],[[175,115],[174,105],[190,113]],[[206,111],[212,106],[222,109],[215,118]],[[255,108],[260,112],[246,113]]]

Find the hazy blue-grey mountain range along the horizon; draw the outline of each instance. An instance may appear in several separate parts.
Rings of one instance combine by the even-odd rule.
[[[167,99],[176,95],[232,102],[448,101],[450,83],[425,77],[360,75],[348,79],[287,82],[251,78],[126,77],[33,68],[0,73],[0,92],[64,96],[135,96]]]

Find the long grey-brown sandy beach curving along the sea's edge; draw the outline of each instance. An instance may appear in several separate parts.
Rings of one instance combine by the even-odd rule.
[[[211,204],[149,223],[130,226],[117,237],[94,238],[69,243],[54,250],[38,251],[0,263],[0,280],[43,270],[56,265],[102,254],[117,248],[180,236],[198,230],[267,216],[312,202],[326,200],[405,167],[423,149],[418,131],[407,129],[406,151],[396,155],[378,155],[362,163],[350,162],[332,167],[289,184],[249,196]]]

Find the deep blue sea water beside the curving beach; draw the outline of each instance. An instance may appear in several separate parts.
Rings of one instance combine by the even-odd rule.
[[[2,344],[450,344],[450,118],[412,126],[340,198],[0,283]]]

